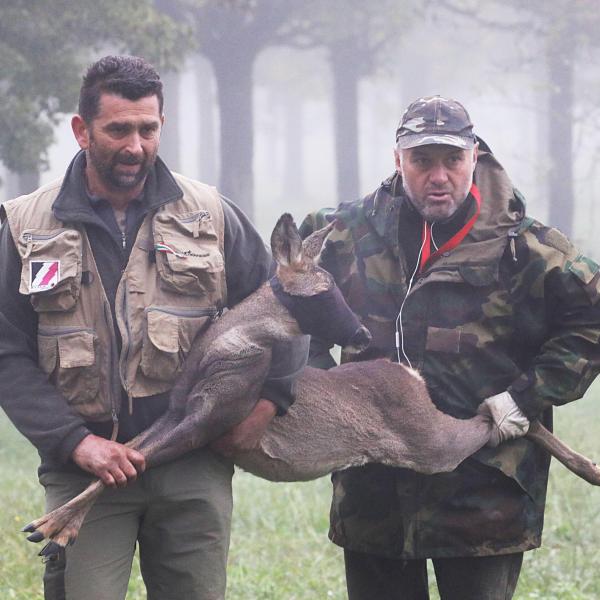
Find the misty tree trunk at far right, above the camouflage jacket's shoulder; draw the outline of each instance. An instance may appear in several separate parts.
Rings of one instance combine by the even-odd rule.
[[[573,234],[573,104],[575,42],[569,35],[570,24],[562,35],[547,46],[548,102],[548,173],[549,225],[565,235]]]

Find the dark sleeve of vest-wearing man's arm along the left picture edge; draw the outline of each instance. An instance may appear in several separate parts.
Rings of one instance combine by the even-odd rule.
[[[89,434],[37,363],[37,314],[19,293],[21,260],[0,228],[0,405],[42,457],[66,463]]]

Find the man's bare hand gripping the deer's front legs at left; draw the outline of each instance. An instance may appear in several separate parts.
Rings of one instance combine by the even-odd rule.
[[[146,468],[146,459],[137,450],[93,434],[79,442],[71,458],[108,487],[124,487]]]

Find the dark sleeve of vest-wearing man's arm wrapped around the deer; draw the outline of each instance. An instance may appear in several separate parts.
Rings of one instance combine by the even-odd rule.
[[[271,253],[250,220],[235,204],[222,198],[225,216],[225,277],[227,304],[235,306],[258,289],[274,272]],[[308,337],[298,336],[273,347],[273,361],[262,397],[283,415],[294,402],[294,382],[306,365]]]

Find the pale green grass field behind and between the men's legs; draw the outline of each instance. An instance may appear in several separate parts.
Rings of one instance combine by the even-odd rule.
[[[600,383],[600,382],[598,382]],[[600,385],[556,411],[556,432],[572,447],[600,456]],[[37,455],[0,415],[0,598],[42,598],[37,546],[19,529],[42,514]],[[342,600],[341,551],[327,540],[327,478],[273,484],[244,473],[234,479],[235,511],[229,558],[230,600]],[[542,549],[529,552],[516,598],[600,598],[600,489],[552,466]],[[432,600],[437,599],[432,584]],[[145,598],[137,565],[128,600]],[[374,599],[376,600],[376,599]]]

